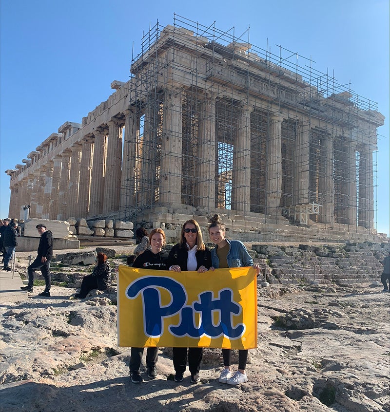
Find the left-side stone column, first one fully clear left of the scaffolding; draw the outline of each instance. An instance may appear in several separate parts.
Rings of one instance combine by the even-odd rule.
[[[119,210],[122,166],[122,134],[117,119],[108,124],[106,177],[104,183],[103,213]]]

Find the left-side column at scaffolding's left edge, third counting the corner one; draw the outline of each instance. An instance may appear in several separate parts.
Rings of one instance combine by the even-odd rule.
[[[120,183],[121,210],[136,204],[136,150],[139,134],[139,114],[136,112],[136,108],[126,109],[123,113],[126,120]]]

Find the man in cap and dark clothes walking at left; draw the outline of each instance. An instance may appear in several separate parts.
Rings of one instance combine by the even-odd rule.
[[[40,235],[39,246],[38,246],[38,256],[34,262],[30,264],[27,268],[28,272],[28,284],[20,289],[26,292],[33,292],[34,288],[34,274],[37,269],[40,269],[42,276],[45,280],[45,290],[39,293],[39,296],[46,298],[50,297],[50,287],[52,282],[52,277],[50,273],[50,261],[53,258],[53,233],[47,230],[46,226],[39,223],[36,226],[38,233]]]

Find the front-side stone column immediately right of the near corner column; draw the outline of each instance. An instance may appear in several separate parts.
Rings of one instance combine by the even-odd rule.
[[[215,94],[205,94],[200,105],[196,164],[196,203],[215,208]]]

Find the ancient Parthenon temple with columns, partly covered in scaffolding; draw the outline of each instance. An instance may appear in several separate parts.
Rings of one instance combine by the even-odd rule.
[[[258,48],[249,32],[177,15],[157,23],[130,80],[113,81],[115,92],[81,123],[66,121],[6,170],[9,216],[31,206],[31,218],[166,227],[192,217],[205,226],[218,212],[254,240],[281,231],[375,237],[384,116],[299,57],[302,66],[281,46]]]

